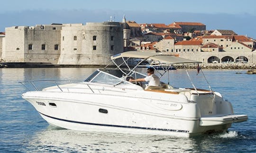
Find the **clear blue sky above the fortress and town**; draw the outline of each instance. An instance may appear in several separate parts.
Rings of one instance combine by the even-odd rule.
[[[109,21],[200,22],[207,30],[229,29],[256,39],[256,0],[1,0],[5,27]]]

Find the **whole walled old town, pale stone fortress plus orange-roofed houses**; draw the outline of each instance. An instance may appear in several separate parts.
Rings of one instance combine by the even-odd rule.
[[[187,39],[189,38],[189,39]],[[123,51],[173,54],[202,63],[256,63],[256,41],[195,22],[134,21],[6,27],[1,62],[107,65]]]

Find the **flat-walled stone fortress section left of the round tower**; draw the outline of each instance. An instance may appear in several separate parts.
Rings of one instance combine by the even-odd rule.
[[[61,24],[6,27],[3,62],[56,64],[61,45]]]

